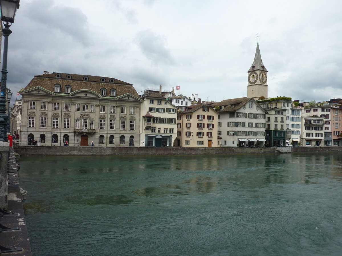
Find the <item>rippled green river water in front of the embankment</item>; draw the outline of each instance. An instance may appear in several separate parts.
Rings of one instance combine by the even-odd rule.
[[[342,254],[342,154],[21,157],[34,256]]]

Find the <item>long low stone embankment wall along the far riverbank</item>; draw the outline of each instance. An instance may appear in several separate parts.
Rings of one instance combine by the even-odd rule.
[[[282,153],[284,147],[71,147],[19,146],[15,152],[22,156],[55,155],[202,155],[202,154],[260,154]],[[342,151],[342,147],[291,147],[291,152]]]

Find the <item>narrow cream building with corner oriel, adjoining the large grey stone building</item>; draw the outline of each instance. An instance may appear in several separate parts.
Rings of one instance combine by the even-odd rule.
[[[156,91],[145,90],[141,96],[140,146],[169,147],[177,134],[178,108]]]

